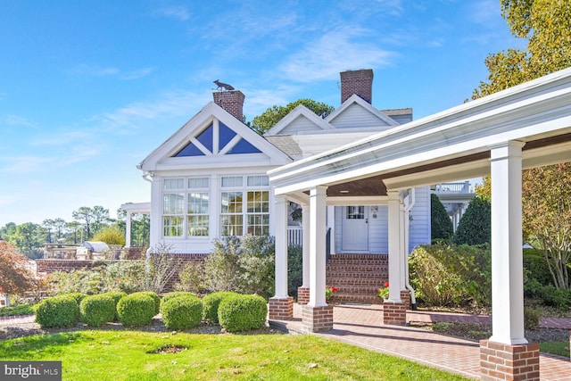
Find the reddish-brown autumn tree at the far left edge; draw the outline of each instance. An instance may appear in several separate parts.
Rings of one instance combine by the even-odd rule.
[[[27,267],[28,259],[16,247],[0,241],[0,290],[4,294],[21,294],[33,286],[33,277]]]

